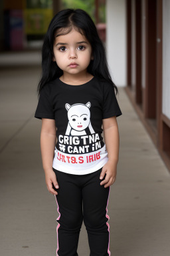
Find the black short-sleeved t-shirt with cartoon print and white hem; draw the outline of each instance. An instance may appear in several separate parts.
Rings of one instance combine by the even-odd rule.
[[[114,86],[93,77],[82,85],[59,78],[41,90],[35,117],[54,119],[56,147],[52,167],[71,174],[87,174],[108,161],[102,119],[122,115]]]

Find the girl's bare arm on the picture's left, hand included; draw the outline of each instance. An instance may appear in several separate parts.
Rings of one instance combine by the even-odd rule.
[[[56,145],[56,126],[54,119],[42,118],[41,127],[41,156],[42,166],[45,173],[46,187],[52,195],[58,193],[52,188],[58,189],[58,183],[56,181],[56,175],[52,169],[52,161],[54,158],[54,149]]]

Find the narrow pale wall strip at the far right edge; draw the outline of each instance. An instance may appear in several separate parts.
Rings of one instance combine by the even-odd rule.
[[[170,1],[163,0],[163,114],[170,119]]]

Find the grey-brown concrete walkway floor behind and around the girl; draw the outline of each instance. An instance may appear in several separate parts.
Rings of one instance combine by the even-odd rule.
[[[41,69],[0,71],[1,144],[0,255],[56,255],[54,196],[48,193],[41,164],[41,121],[35,119]],[[108,204],[113,256],[170,255],[170,175],[139,121],[123,88],[118,176]],[[84,225],[78,254],[88,256]]]

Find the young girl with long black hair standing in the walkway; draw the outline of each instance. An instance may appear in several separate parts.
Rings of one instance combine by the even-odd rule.
[[[78,255],[83,220],[90,255],[110,255],[107,207],[118,164],[116,117],[122,115],[115,90],[90,16],[81,9],[57,13],[42,47],[35,113],[42,119],[46,186],[58,205],[56,255]]]

